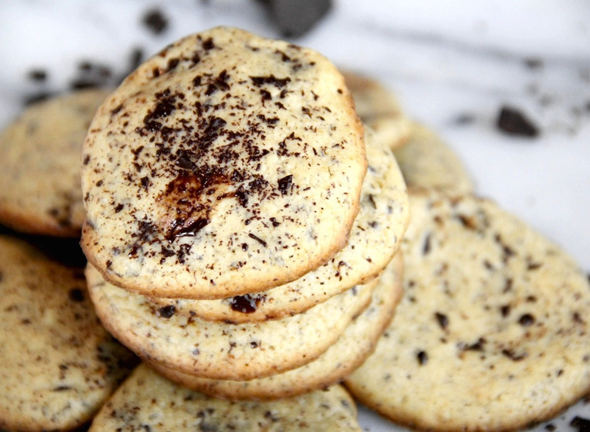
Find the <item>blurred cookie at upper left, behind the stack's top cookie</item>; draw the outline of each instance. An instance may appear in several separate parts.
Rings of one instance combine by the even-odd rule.
[[[0,223],[25,233],[80,236],[80,152],[108,94],[84,90],[34,104],[0,133]]]

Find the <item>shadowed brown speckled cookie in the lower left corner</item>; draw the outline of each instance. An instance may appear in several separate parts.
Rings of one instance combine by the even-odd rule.
[[[136,364],[100,325],[81,269],[0,235],[0,430],[71,430]]]

